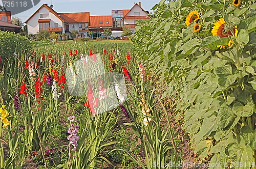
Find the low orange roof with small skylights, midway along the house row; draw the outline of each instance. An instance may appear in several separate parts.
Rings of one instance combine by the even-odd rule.
[[[90,16],[91,25],[89,27],[111,27],[112,16]],[[102,22],[102,24],[100,24]],[[107,23],[108,22],[108,23]]]

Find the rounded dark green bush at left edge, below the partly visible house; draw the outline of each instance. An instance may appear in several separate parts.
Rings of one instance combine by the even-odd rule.
[[[10,58],[15,54],[25,54],[31,47],[31,41],[25,36],[0,31],[0,58]]]

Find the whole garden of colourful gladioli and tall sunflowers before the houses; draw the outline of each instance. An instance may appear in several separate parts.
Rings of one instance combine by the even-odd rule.
[[[130,43],[0,31],[0,168],[256,168],[255,0],[152,9]]]

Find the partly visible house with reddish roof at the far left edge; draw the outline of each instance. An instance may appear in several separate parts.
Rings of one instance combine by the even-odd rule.
[[[20,26],[12,24],[11,12],[10,11],[1,11],[0,12],[0,31],[8,32],[20,32]]]

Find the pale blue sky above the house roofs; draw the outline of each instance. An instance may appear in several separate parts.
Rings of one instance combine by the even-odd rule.
[[[56,12],[90,12],[90,15],[111,15],[111,10],[131,9],[134,3],[141,2],[141,7],[145,11],[150,9],[160,2],[160,0],[137,0],[137,1],[124,1],[124,0],[41,0],[35,7],[12,15],[19,17],[25,22],[42,4],[53,4],[53,9]]]

